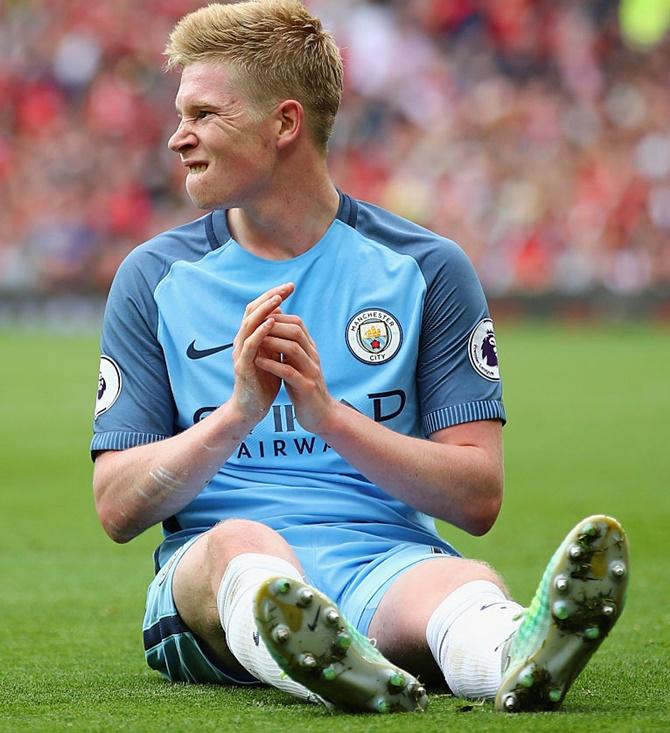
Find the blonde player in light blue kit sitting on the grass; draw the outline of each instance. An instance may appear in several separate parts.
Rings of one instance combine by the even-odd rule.
[[[524,611],[436,532],[486,532],[502,498],[471,264],[334,186],[342,63],[300,3],[210,5],[166,53],[169,147],[210,213],[119,269],[92,443],[109,535],[163,525],[149,664],[361,711],[423,709],[419,676],[502,710],[558,706],[621,611],[625,538],[581,522]]]

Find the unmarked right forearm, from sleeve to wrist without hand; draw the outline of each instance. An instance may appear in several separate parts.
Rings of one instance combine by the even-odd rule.
[[[495,434],[498,426],[478,425]],[[445,444],[396,433],[336,403],[319,435],[361,474],[410,506],[473,534],[495,520],[502,498],[496,441]]]

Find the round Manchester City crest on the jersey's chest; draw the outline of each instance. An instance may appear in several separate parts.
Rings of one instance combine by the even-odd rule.
[[[359,311],[347,324],[349,351],[365,364],[382,364],[397,353],[402,329],[388,311],[369,308]]]

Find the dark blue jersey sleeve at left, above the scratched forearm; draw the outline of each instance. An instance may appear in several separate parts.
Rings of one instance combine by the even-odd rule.
[[[176,408],[156,336],[153,292],[161,264],[141,250],[122,263],[105,308],[93,456],[152,443],[174,432]]]

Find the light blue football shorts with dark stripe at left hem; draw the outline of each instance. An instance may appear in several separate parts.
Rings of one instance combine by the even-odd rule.
[[[393,581],[409,568],[459,553],[444,540],[434,544],[398,542],[359,529],[296,525],[279,531],[296,553],[308,583],[332,598],[367,636],[377,606]],[[172,581],[179,560],[202,535],[184,543],[163,565],[147,592],[143,623],[147,663],[168,679],[214,684],[257,684],[223,667],[177,612]]]

